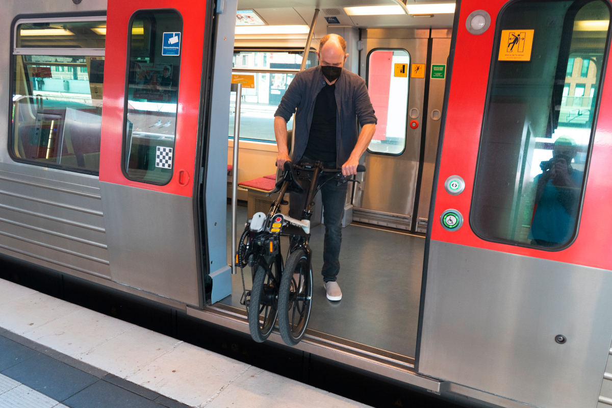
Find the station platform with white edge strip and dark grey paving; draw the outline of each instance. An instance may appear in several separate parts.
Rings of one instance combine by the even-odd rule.
[[[0,407],[367,407],[0,279]]]

